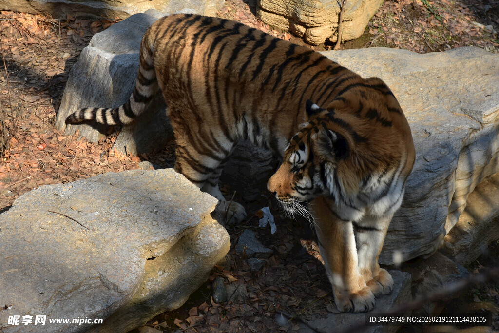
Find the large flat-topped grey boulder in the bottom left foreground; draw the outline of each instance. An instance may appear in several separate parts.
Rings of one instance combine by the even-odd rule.
[[[42,186],[0,215],[0,327],[127,332],[173,310],[230,248],[217,200],[172,169]],[[47,316],[46,325],[8,325]],[[103,319],[101,325],[50,319]]]

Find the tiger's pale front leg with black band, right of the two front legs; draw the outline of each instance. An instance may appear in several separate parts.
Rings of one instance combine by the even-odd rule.
[[[393,214],[382,218],[366,215],[354,225],[359,272],[374,296],[387,295],[393,290],[392,276],[378,263],[392,217]]]

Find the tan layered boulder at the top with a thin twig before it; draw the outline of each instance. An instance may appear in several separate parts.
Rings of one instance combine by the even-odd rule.
[[[337,0],[258,0],[256,15],[265,23],[291,31],[310,44],[337,40],[340,2]],[[349,0],[343,12],[342,41],[364,33],[383,0]]]

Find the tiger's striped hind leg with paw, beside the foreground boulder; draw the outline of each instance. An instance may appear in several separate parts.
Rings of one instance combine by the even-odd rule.
[[[170,118],[175,119],[172,116]],[[195,131],[184,128],[185,123],[178,124],[172,121],[177,143],[175,171],[182,173],[203,192],[220,200],[215,215],[222,223],[229,220],[231,223],[241,222],[247,216],[245,208],[237,202],[232,202],[229,206],[218,185],[224,164],[229,159],[234,144],[225,140],[224,145],[218,143],[217,146],[213,142],[208,145],[206,135],[201,137],[199,135],[201,131],[196,132],[198,135],[194,134]],[[217,139],[213,137],[211,140]]]

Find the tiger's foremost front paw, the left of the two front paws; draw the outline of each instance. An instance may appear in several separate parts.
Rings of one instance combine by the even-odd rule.
[[[374,295],[369,287],[364,287],[361,290],[351,293],[349,291],[338,291],[333,287],[334,304],[340,312],[368,312],[373,310],[375,300]]]

